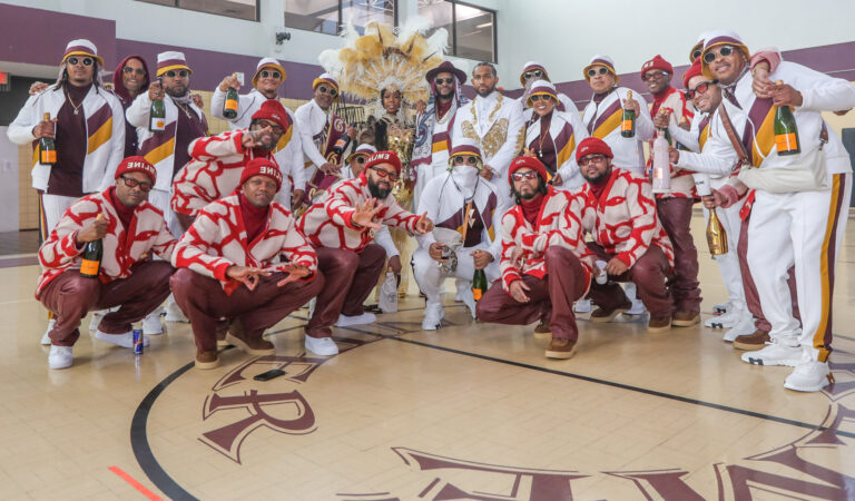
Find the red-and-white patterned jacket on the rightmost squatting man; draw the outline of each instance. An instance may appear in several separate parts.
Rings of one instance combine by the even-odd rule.
[[[590,184],[577,191],[584,199],[582,227],[607,253],[632,267],[650,245],[662,249],[674,267],[674,248],[656,214],[653,188],[646,178],[615,167],[600,199]]]

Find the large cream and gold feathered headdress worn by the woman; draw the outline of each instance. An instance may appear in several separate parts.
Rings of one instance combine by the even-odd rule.
[[[449,39],[443,28],[425,39],[423,33],[429,28],[431,21],[416,16],[395,36],[391,26],[370,21],[360,37],[347,23],[342,32],[344,47],[324,50],[318,59],[350,96],[376,102],[380,91],[387,89],[399,90],[401,98],[411,104],[426,101],[430,87],[424,73],[442,62]]]

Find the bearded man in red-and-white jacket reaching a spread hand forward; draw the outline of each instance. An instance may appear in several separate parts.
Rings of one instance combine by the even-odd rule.
[[[425,215],[404,210],[392,188],[401,175],[401,159],[394,151],[377,151],[365,164],[360,177],[341,180],[324,194],[297,222],[317,252],[318,266],[326,276],[326,287],[306,325],[306,350],[318,355],[335,355],[332,325],[368,324],[372,313],[362,303],[377,283],[386,253],[372,243],[382,225],[411,234],[433,230]]]

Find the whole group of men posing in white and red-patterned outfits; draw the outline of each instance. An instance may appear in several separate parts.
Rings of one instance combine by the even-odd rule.
[[[222,343],[274,353],[264,331],[312,298],[305,346],[334,355],[333,325],[375,320],[363,303],[396,256],[386,226],[416,235],[423,328],[441,326],[443,281],[458,277],[473,316],[539,321],[546,356],[569,358],[574,304],[578,311],[592,301],[591,321],[611,322],[640,302],[651,332],[700,322],[689,223],[702,198],[719,207],[730,244],[717,256],[730,301],[707,325],[729,327],[725,341],[746,351],[745,362],[794,366],[786,387],[818,391],[829,379],[835,256],[852,184],[848,157],[820,111],[855,106],[855,87],[782,61],[775,50],[751,56],[730,31],[704,33],[690,55],[685,92],[670,85],[674,69],[661,57],[642,66],[650,108],[640,92],[618,86],[610,58],[596,56],[584,68],[593,96],[582,114],[543,65],[525,65],[515,100],[495,89],[492,65],[479,63],[468,101],[460,94],[465,73],[443,62],[425,77],[431,102],[419,106],[417,207],[410,213],[392,196],[402,167],[394,153],[376,151],[365,135],[341,156],[334,150],[336,139],[357,131],[331,112],[340,94],[333,76],[315,79],[314,99],[292,114],[277,98],[284,68],[262,59],[232,130],[207,137],[180,52],[158,56],[157,81],[141,58],[126,58],[108,92],[96,78],[102,61],[95,47],[75,40],[58,82],[38,89],[9,129],[21,144],[55,136],[59,150],[57,165],[33,168],[50,229],[36,293],[56,316],[49,366],[71,365],[91,310],[118,306],[96,325],[104,341],[130,346],[131,324],[147,315],[147,333],[161,332],[150,315],[170,292],[191,323],[198,367],[217,366]],[[215,90],[215,116],[237,87],[226,77]],[[384,106],[386,97],[390,107],[401,105],[386,95]],[[153,132],[148,110],[157,99],[166,126]],[[799,155],[776,150],[769,117],[784,106],[795,109]],[[665,108],[671,112],[658,112]],[[636,114],[632,137],[621,135],[625,109]],[[56,118],[42,121],[43,112]],[[671,191],[655,195],[643,143],[657,129],[679,148],[670,151]],[[816,157],[827,179],[809,190],[755,181],[749,189],[737,176],[751,167],[812,171]],[[324,176],[340,180],[325,185]],[[704,185],[712,189],[701,197]],[[78,272],[95,239],[105,249],[99,279]],[[764,245],[749,245],[758,240]],[[478,302],[466,287],[475,269],[494,282]],[[625,292],[620,283],[633,286]]]

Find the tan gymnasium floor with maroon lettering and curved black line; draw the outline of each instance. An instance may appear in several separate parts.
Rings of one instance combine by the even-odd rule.
[[[694,230],[709,313],[726,295]],[[442,330],[421,331],[411,294],[336,330],[331,358],[306,356],[302,310],[268,333],[273,357],[229,348],[197,371],[189,325],[169,323],[138,358],[83,334],[49,371],[38,267],[0,259],[0,499],[854,499],[854,232],[837,382],[813,394],[705,327],[580,320],[576,356],[550,361],[533,326],[473,323],[451,293]],[[286,375],[252,379],[272,367]]]

